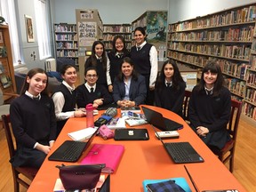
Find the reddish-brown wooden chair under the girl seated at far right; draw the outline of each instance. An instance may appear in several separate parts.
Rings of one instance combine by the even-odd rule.
[[[242,102],[237,100],[231,100],[231,115],[230,115],[229,123],[227,127],[231,140],[228,141],[225,147],[222,148],[221,150],[217,148],[211,148],[212,152],[215,155],[219,156],[219,159],[223,164],[226,164],[229,160],[230,172],[233,172],[234,170],[236,137],[237,137],[237,130],[238,130],[238,124],[239,124],[241,112],[242,112]]]

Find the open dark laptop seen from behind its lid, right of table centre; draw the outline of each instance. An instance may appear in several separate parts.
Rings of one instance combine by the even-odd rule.
[[[171,119],[167,119],[161,113],[155,110],[146,108],[144,106],[142,106],[141,108],[143,110],[144,115],[146,116],[148,124],[153,124],[162,131],[176,131],[178,129],[183,128],[183,124],[179,124],[177,122],[172,121]]]

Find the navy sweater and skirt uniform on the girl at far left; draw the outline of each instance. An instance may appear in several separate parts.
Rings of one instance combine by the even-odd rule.
[[[10,162],[14,167],[40,167],[46,154],[36,149],[36,143],[48,145],[56,139],[54,104],[47,95],[33,100],[27,94],[12,101],[10,117],[17,151]]]

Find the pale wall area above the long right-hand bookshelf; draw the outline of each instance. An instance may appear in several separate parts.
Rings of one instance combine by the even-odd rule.
[[[169,23],[220,12],[244,4],[256,3],[255,0],[169,0]]]

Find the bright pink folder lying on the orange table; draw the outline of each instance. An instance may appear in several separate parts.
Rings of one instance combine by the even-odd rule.
[[[124,146],[116,144],[93,144],[81,164],[106,164],[102,172],[113,173],[124,154]]]

